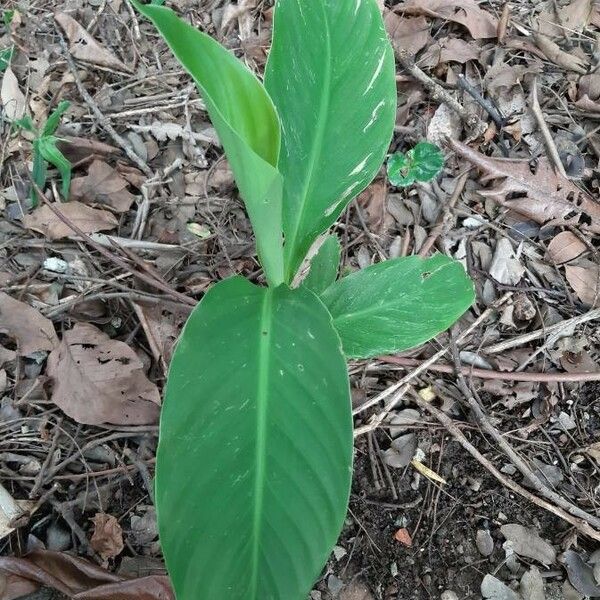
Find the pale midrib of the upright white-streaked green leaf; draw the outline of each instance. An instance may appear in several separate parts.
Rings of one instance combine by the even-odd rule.
[[[304,219],[304,213],[306,212],[306,207],[308,205],[307,198],[309,196],[309,192],[313,187],[313,175],[317,164],[317,159],[321,154],[321,147],[323,144],[323,138],[325,136],[325,126],[327,123],[326,115],[329,111],[329,104],[331,100],[331,30],[329,27],[329,21],[327,19],[327,12],[325,11],[322,1],[319,2],[319,6],[321,7],[323,13],[323,22],[325,23],[325,75],[323,78],[323,92],[321,94],[319,112],[317,115],[317,129],[315,131],[314,142],[310,149],[308,169],[306,172],[303,190],[299,196],[300,207],[297,212],[298,217],[294,222],[294,227],[291,234],[286,236],[285,239],[285,277],[287,283],[291,283],[295,275],[295,273],[292,271],[294,270],[295,246],[298,238],[298,231],[300,230],[300,223],[302,223]]]

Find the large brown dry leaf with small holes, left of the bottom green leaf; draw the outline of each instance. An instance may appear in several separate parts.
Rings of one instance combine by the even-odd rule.
[[[88,323],[67,331],[48,357],[52,401],[78,423],[146,425],[158,419],[160,394],[137,354]]]

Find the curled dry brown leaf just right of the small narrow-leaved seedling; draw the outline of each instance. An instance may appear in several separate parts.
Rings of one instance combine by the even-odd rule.
[[[115,212],[127,212],[135,196],[127,189],[128,181],[104,161],[95,160],[85,177],[71,184],[71,198],[110,206]]]

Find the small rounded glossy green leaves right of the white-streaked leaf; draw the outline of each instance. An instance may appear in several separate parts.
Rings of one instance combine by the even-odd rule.
[[[399,187],[412,185],[415,181],[431,181],[444,166],[442,151],[429,142],[419,142],[406,154],[396,152],[388,160],[390,183]]]

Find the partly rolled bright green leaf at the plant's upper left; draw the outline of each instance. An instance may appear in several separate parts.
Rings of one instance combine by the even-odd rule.
[[[219,134],[271,285],[283,281],[280,125],[262,84],[231,52],[169,8],[134,6],[148,17],[194,78]]]

